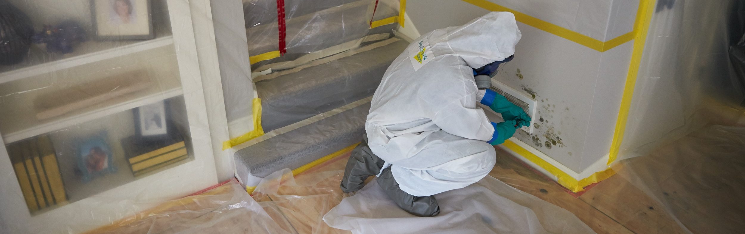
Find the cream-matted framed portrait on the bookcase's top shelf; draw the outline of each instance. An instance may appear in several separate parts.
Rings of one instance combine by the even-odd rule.
[[[91,0],[98,39],[153,39],[150,0]]]

